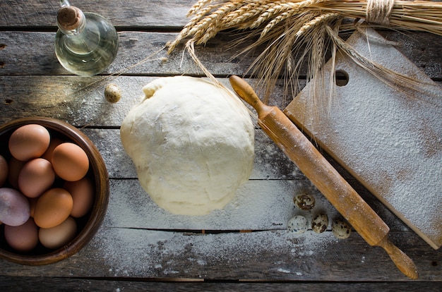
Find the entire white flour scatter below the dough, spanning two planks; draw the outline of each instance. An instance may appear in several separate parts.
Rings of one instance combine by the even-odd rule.
[[[316,198],[312,211],[294,207],[294,195],[304,191]],[[98,261],[108,265],[109,276],[205,278],[219,266],[227,271],[254,267],[253,261],[268,266],[281,255],[287,258],[273,262],[273,272],[303,271],[305,275],[309,271],[300,259],[325,253],[337,240],[330,226],[324,233],[309,230],[296,236],[287,231],[287,221],[296,214],[311,221],[317,212],[328,214],[330,222],[338,216],[306,180],[249,181],[224,209],[202,217],[170,214],[157,207],[134,181],[111,180],[107,215],[90,244],[97,250]],[[231,231],[225,231],[226,226]]]

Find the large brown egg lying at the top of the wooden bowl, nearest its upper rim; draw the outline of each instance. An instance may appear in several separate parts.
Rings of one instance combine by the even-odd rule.
[[[49,146],[51,136],[43,126],[29,124],[15,130],[9,138],[9,152],[23,162],[40,157]]]

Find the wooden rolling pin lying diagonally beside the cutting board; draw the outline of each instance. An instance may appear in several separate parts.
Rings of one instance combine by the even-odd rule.
[[[258,125],[352,224],[359,235],[369,245],[377,245],[386,250],[400,272],[411,279],[417,279],[417,268],[410,257],[388,240],[390,229],[387,224],[340,176],[294,123],[277,107],[263,104],[244,79],[232,75],[230,84],[239,97],[256,109]]]

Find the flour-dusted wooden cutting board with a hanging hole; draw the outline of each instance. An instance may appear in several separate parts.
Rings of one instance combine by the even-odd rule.
[[[347,40],[359,54],[394,71],[433,81],[397,49],[369,30]],[[331,63],[325,66],[325,80]],[[434,249],[442,245],[442,89],[393,90],[349,57],[338,54],[336,70],[347,75],[337,86],[330,114],[315,115],[309,85],[285,114],[378,197]],[[328,83],[326,83],[328,84]],[[325,85],[327,86],[327,85]],[[328,96],[328,89],[325,88]]]

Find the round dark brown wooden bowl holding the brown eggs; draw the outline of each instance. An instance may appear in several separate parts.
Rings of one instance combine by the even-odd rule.
[[[49,130],[52,138],[74,142],[88,154],[90,166],[87,176],[95,184],[95,200],[91,210],[84,217],[76,219],[78,231],[76,237],[57,250],[44,248],[40,243],[29,253],[19,253],[8,246],[4,238],[4,224],[0,226],[0,257],[18,264],[41,265],[58,262],[75,254],[95,235],[104,219],[109,202],[109,176],[100,152],[90,139],[77,128],[54,118],[19,118],[0,127],[0,154],[6,159],[11,157],[8,151],[8,139],[14,130],[27,124],[39,124]],[[6,183],[5,183],[6,184]],[[4,185],[5,186],[5,185]]]

